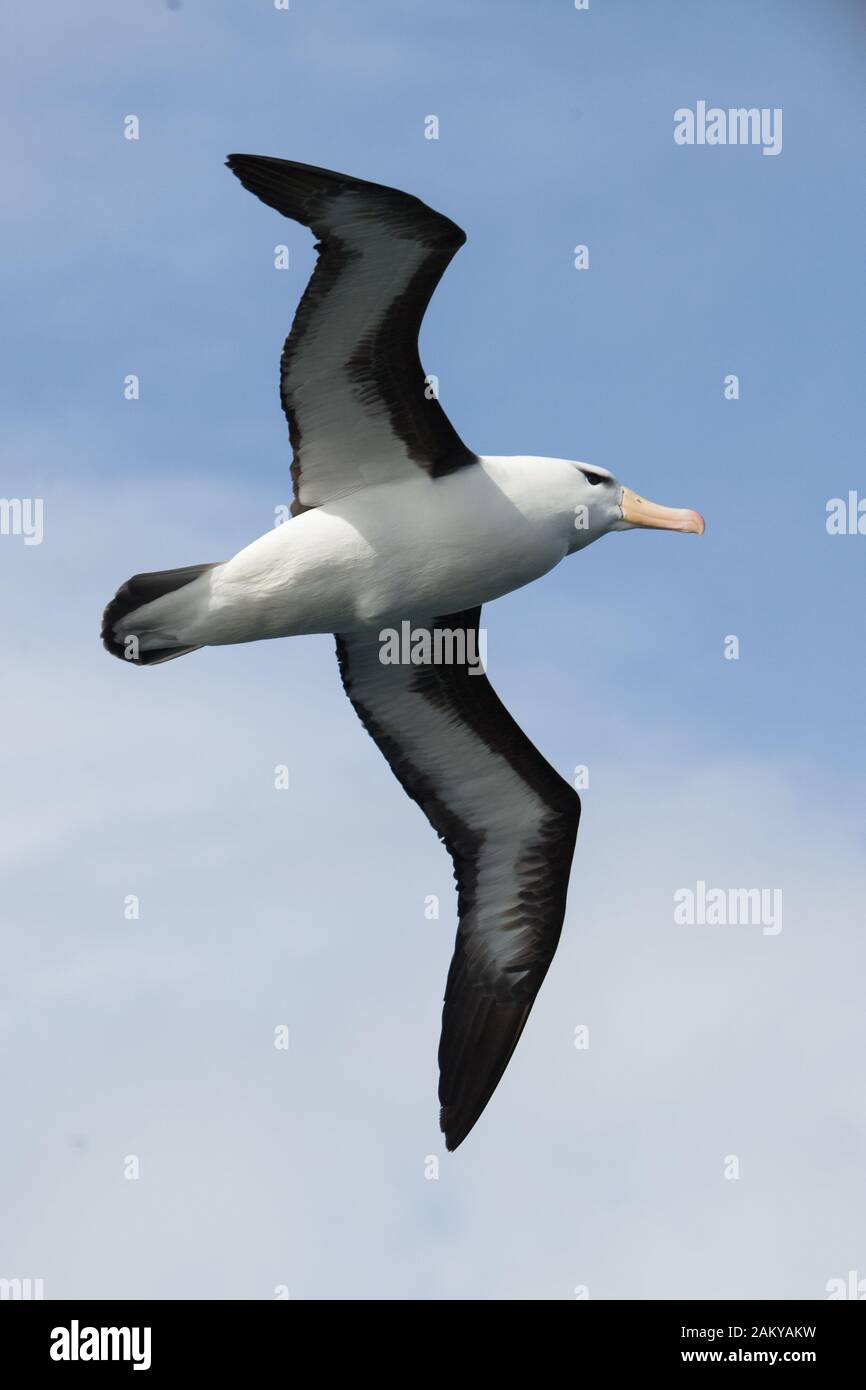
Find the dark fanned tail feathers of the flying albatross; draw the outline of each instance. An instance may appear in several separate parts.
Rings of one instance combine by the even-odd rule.
[[[188,564],[182,570],[133,574],[121,584],[103,613],[106,651],[132,666],[156,666],[196,652],[202,644],[190,644],[182,635],[195,614],[195,599],[192,594],[181,596],[178,591],[213,569],[215,564]],[[172,599],[171,595],[178,596]]]

